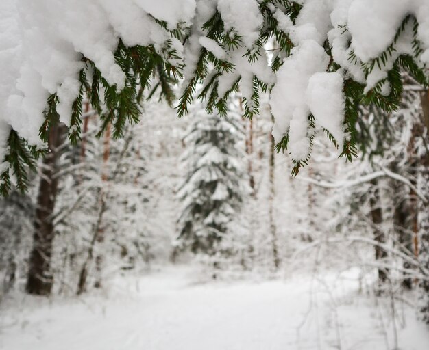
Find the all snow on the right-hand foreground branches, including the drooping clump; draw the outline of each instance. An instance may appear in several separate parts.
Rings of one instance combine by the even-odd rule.
[[[311,132],[305,130],[308,129],[308,120],[304,118],[304,114],[310,111],[317,114],[316,123],[334,135],[341,149],[345,137],[341,126],[344,114],[343,78],[352,77],[360,83],[366,83],[366,93],[387,77],[397,57],[402,54],[413,55],[412,23],[409,21],[395,43],[396,50],[381,68],[374,68],[365,77],[360,66],[360,62],[368,62],[388,48],[406,15],[415,14],[419,23],[422,23],[418,29],[418,38],[423,46],[427,47],[429,40],[429,5],[425,0],[306,0],[302,4],[295,24],[284,18],[280,10],[271,10],[280,21],[280,28],[289,33],[296,45],[278,71],[271,94],[271,110],[275,117],[273,136],[276,142],[280,142],[289,133],[289,152],[297,161],[305,159],[310,148],[308,138]],[[328,66],[326,59],[321,57],[325,54],[322,45],[326,38],[332,45],[334,61],[341,65],[341,69],[332,75],[322,74]],[[309,46],[314,53],[308,52]],[[357,62],[350,60],[352,52]],[[421,62],[428,56],[427,53],[421,55]],[[305,62],[303,68],[299,67],[301,62]],[[320,66],[313,69],[316,64]],[[310,68],[306,69],[306,66]],[[390,85],[384,84],[382,94],[389,92]]]

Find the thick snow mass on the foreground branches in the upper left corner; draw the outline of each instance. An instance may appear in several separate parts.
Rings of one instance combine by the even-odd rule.
[[[95,62],[108,83],[121,89],[125,74],[113,55],[119,38],[129,46],[153,44],[159,52],[172,40],[180,56],[180,42],[151,16],[175,27],[191,25],[195,13],[194,0],[6,0],[1,6],[5,31],[0,34],[0,63],[8,66],[9,76],[1,79],[7,84],[0,90],[1,107],[7,103],[7,113],[13,116],[8,124],[39,145],[38,130],[50,94],[58,94],[60,120],[70,122],[84,67],[82,54]]]

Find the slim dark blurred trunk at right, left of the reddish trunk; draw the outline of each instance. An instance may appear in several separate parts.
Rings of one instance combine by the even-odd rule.
[[[374,240],[380,244],[386,243],[386,236],[380,225],[383,222],[381,201],[380,201],[380,192],[378,190],[378,181],[372,180],[371,184],[374,188],[373,196],[369,199],[369,204],[371,205],[371,220],[373,223],[373,234]],[[376,245],[376,260],[381,260],[387,257],[387,252],[380,247],[380,245]],[[386,282],[387,280],[387,269],[378,268],[378,282],[379,286]]]

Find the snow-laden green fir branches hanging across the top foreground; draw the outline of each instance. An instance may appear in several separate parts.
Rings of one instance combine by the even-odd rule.
[[[420,85],[428,86],[428,16],[424,1],[402,6],[394,18],[386,11],[390,6],[387,1],[369,6],[371,0],[246,0],[245,5],[242,1],[219,0],[197,2],[189,9],[171,1],[171,8],[163,9],[167,16],[152,13],[151,7],[141,1],[140,5],[134,1],[122,1],[120,5],[102,1],[98,5],[82,3],[73,9],[76,16],[61,19],[44,1],[41,3],[47,7],[47,18],[25,16],[26,11],[31,14],[43,9],[29,1],[23,6],[21,20],[31,30],[21,31],[23,41],[32,42],[32,36],[36,36],[46,47],[27,45],[28,62],[25,61],[25,69],[16,70],[16,80],[28,80],[29,85],[12,83],[12,92],[8,90],[2,96],[4,100],[12,97],[13,112],[24,110],[27,115],[19,116],[19,122],[14,123],[10,123],[14,116],[1,116],[5,132],[0,140],[0,161],[4,161],[0,193],[7,194],[13,183],[25,191],[27,170],[40,154],[40,148],[32,145],[38,143],[40,147],[38,134],[42,142],[47,142],[57,113],[69,126],[71,142],[77,142],[84,127],[84,96],[100,112],[101,134],[111,124],[112,136],[117,138],[123,135],[125,122],[138,121],[138,100],[145,90],[149,96],[160,90],[173,105],[174,86],[179,81],[183,81],[176,107],[179,116],[188,112],[201,82],[204,88],[198,97],[205,100],[208,112],[217,110],[221,116],[228,96],[238,86],[248,117],[259,113],[260,93],[270,92],[277,149],[291,152],[294,175],[308,163],[319,126],[339,153],[351,161],[357,154],[359,103],[376,105],[388,113],[396,110],[404,85],[402,70]],[[361,2],[367,5],[359,5]],[[58,11],[67,6],[62,2],[54,5]],[[127,15],[119,16],[118,10]],[[84,23],[79,15],[87,18],[93,14],[91,11],[101,16],[106,27],[95,27],[93,20]],[[140,15],[128,18],[136,13]],[[371,20],[365,23],[365,16],[371,16]],[[63,20],[61,27],[67,29],[66,35],[45,27],[46,23],[55,26]],[[147,32],[136,36],[142,27]],[[381,30],[383,27],[389,32]],[[91,33],[86,38],[88,42],[77,45],[86,31]],[[104,35],[112,40],[98,40]],[[274,49],[267,48],[269,40],[275,42]],[[70,52],[62,52],[65,46],[57,46],[57,42],[64,42]],[[64,60],[40,64],[45,59],[38,56],[39,51],[45,53],[42,49],[52,57],[64,54]],[[272,56],[271,64],[267,55]],[[56,77],[52,70],[62,73]],[[45,83],[33,81],[32,77],[40,77]],[[295,93],[297,98],[288,100]],[[336,107],[327,111],[323,106],[332,96],[336,100],[328,105]],[[45,109],[40,109],[43,103]],[[34,107],[36,116],[32,115],[34,108],[22,108],[24,105]],[[101,113],[101,107],[106,107],[105,112]],[[30,117],[40,120],[32,124],[32,130],[26,122]]]

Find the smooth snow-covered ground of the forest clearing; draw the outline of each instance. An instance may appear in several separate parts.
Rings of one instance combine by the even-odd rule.
[[[195,269],[171,268],[122,278],[108,295],[15,296],[0,304],[0,349],[392,350],[395,329],[397,349],[429,349],[415,309],[395,301],[393,319],[356,275],[202,284]]]

